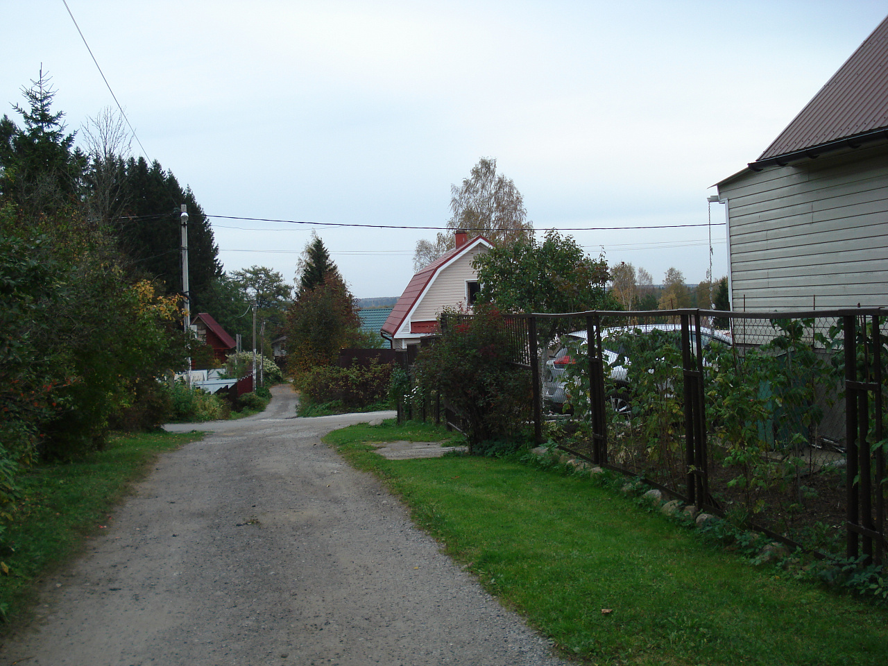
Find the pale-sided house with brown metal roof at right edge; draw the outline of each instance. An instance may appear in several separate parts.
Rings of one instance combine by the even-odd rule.
[[[888,306],[888,19],[718,197],[734,310]]]

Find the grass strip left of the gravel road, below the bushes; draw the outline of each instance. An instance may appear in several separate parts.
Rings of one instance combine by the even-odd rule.
[[[109,512],[143,478],[158,454],[202,433],[115,435],[107,447],[71,463],[38,464],[22,474],[19,501],[6,526],[0,560],[0,614],[8,630],[27,616],[42,577],[83,551]],[[0,567],[2,568],[2,567]]]

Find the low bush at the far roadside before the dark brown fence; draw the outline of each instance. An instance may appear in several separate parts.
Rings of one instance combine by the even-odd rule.
[[[350,368],[320,366],[306,371],[297,389],[315,404],[340,401],[344,408],[364,408],[385,401],[391,384],[392,365],[376,359],[368,366],[353,363]]]

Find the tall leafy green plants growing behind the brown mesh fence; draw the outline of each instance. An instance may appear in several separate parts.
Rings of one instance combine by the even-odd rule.
[[[739,501],[734,511],[752,517],[776,490],[783,527],[789,528],[813,496],[804,481],[814,471],[812,446],[821,441],[824,405],[836,396],[841,327],[823,333],[813,319],[773,319],[770,327],[767,343],[756,348],[718,341],[704,348],[710,462],[728,474],[725,501]],[[613,407],[611,458],[677,487],[686,474],[680,333],[603,329],[602,339]],[[567,404],[588,423],[588,347],[579,337],[564,343],[574,361],[565,364]]]

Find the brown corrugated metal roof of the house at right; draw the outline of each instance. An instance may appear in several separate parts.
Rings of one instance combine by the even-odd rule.
[[[888,17],[757,162],[884,128],[888,128]]]

